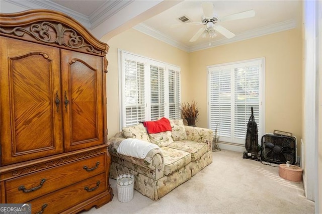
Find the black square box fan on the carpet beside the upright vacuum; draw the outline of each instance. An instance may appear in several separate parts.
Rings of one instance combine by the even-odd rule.
[[[270,163],[296,163],[296,138],[265,134],[262,137],[262,160]]]

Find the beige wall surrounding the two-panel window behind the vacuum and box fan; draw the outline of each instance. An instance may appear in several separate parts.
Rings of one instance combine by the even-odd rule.
[[[198,126],[207,127],[206,66],[265,57],[265,132],[293,133],[302,125],[301,30],[292,29],[189,54],[191,98],[198,102]]]

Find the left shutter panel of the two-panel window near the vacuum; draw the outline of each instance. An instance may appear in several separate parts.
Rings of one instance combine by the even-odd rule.
[[[209,72],[209,129],[221,137],[231,136],[231,78],[230,69]]]

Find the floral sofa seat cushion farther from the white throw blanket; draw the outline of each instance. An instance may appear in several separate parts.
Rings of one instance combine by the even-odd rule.
[[[207,144],[188,140],[175,141],[167,147],[191,153],[191,161],[198,160],[208,151]]]

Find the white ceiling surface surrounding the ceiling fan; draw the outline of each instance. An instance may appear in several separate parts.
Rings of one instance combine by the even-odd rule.
[[[173,24],[180,23],[177,19],[183,15],[189,17],[193,22],[200,22],[203,15],[202,1],[184,1],[163,13],[160,13],[142,23],[142,28],[152,28],[160,34],[179,42],[184,48],[198,49],[212,45],[229,43],[229,41],[244,39],[241,36],[253,37],[259,30],[262,34],[279,31],[280,28],[288,29],[295,27],[300,20],[300,1],[207,1],[214,5],[214,12],[220,18],[230,14],[254,10],[256,15],[252,18],[234,20],[220,23],[223,27],[233,32],[236,36],[226,39],[221,34],[209,40],[209,37],[189,42],[194,34],[203,25],[189,25],[171,28]],[[270,29],[268,29],[270,28]],[[275,28],[275,29],[273,29]],[[276,29],[278,28],[278,29]]]

